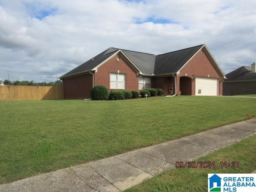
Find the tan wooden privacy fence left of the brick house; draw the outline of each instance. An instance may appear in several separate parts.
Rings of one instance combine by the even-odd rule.
[[[63,86],[0,86],[0,100],[60,100]]]

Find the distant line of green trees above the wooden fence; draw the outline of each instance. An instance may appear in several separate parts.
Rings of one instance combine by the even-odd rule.
[[[33,81],[9,81],[9,80],[4,80],[4,85],[22,85],[22,86],[62,86],[62,81],[57,80],[55,82],[34,82]]]

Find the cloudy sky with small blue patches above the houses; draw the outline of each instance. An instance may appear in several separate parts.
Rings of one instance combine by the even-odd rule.
[[[0,80],[55,81],[109,47],[162,54],[206,44],[222,69],[250,66],[255,8],[255,0],[0,0]]]

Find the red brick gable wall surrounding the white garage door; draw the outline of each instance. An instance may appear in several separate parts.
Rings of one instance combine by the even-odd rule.
[[[222,95],[222,78],[215,66],[209,60],[208,56],[201,54],[199,51],[181,70],[177,76],[177,92],[180,91],[180,77],[187,76],[192,79],[192,95],[195,95],[195,80],[194,76],[219,79],[219,95]]]

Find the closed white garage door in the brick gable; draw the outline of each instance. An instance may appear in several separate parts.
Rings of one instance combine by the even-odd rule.
[[[197,77],[196,95],[219,95],[219,80]]]

